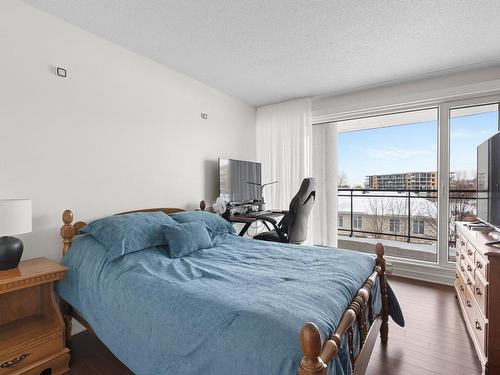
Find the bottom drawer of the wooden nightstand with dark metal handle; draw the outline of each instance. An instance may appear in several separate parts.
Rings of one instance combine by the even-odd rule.
[[[36,361],[45,359],[51,354],[61,350],[63,347],[62,332],[42,339],[38,343],[18,349],[15,352],[4,354],[0,358],[0,375],[11,374],[19,371]]]

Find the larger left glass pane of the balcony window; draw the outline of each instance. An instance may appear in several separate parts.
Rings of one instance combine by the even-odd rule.
[[[430,108],[336,123],[338,212],[353,216],[340,247],[381,241],[388,255],[436,261],[437,120]]]

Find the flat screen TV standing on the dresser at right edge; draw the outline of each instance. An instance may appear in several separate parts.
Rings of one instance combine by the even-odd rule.
[[[500,132],[477,147],[477,217],[500,229]]]

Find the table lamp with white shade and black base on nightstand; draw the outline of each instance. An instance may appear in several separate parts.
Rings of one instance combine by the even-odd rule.
[[[23,242],[15,234],[31,232],[31,199],[0,199],[0,271],[16,268]]]

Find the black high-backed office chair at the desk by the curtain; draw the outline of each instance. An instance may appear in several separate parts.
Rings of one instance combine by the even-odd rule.
[[[274,229],[254,236],[254,239],[283,243],[300,244],[307,239],[307,221],[316,198],[316,180],[305,178],[300,189],[290,202],[289,210],[278,223],[272,217],[259,216],[260,220],[270,223]]]

